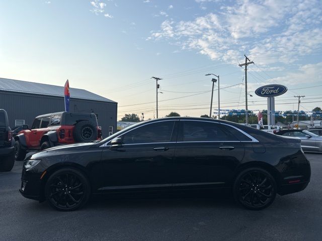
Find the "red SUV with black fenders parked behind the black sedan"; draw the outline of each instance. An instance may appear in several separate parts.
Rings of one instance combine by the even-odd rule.
[[[61,144],[102,140],[96,115],[57,112],[39,115],[32,127],[23,126],[15,136],[15,157],[21,161],[27,152],[44,150]]]

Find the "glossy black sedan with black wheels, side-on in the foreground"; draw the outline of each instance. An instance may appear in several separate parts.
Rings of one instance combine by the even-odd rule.
[[[58,210],[108,193],[231,189],[250,209],[303,190],[310,164],[300,140],[208,118],[154,119],[98,143],[58,146],[24,162],[20,192]]]

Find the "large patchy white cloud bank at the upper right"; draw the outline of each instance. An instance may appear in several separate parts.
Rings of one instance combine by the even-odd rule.
[[[234,64],[245,53],[259,65],[286,63],[295,61],[290,56],[296,53],[310,54],[322,47],[321,14],[319,0],[240,0],[190,21],[166,20],[147,40],[166,40]]]

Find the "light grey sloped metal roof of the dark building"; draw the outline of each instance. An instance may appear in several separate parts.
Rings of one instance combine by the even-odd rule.
[[[34,83],[34,82],[15,80],[15,79],[5,79],[5,78],[0,78],[0,90],[10,91],[10,92],[30,93],[30,94],[42,94],[42,95],[49,95],[49,96],[60,96],[60,97],[64,96],[63,86],[41,84],[41,83]],[[77,99],[97,100],[97,101],[116,103],[113,100],[110,100],[98,94],[92,93],[85,89],[69,88],[69,92],[70,92],[71,99],[77,98]]]

